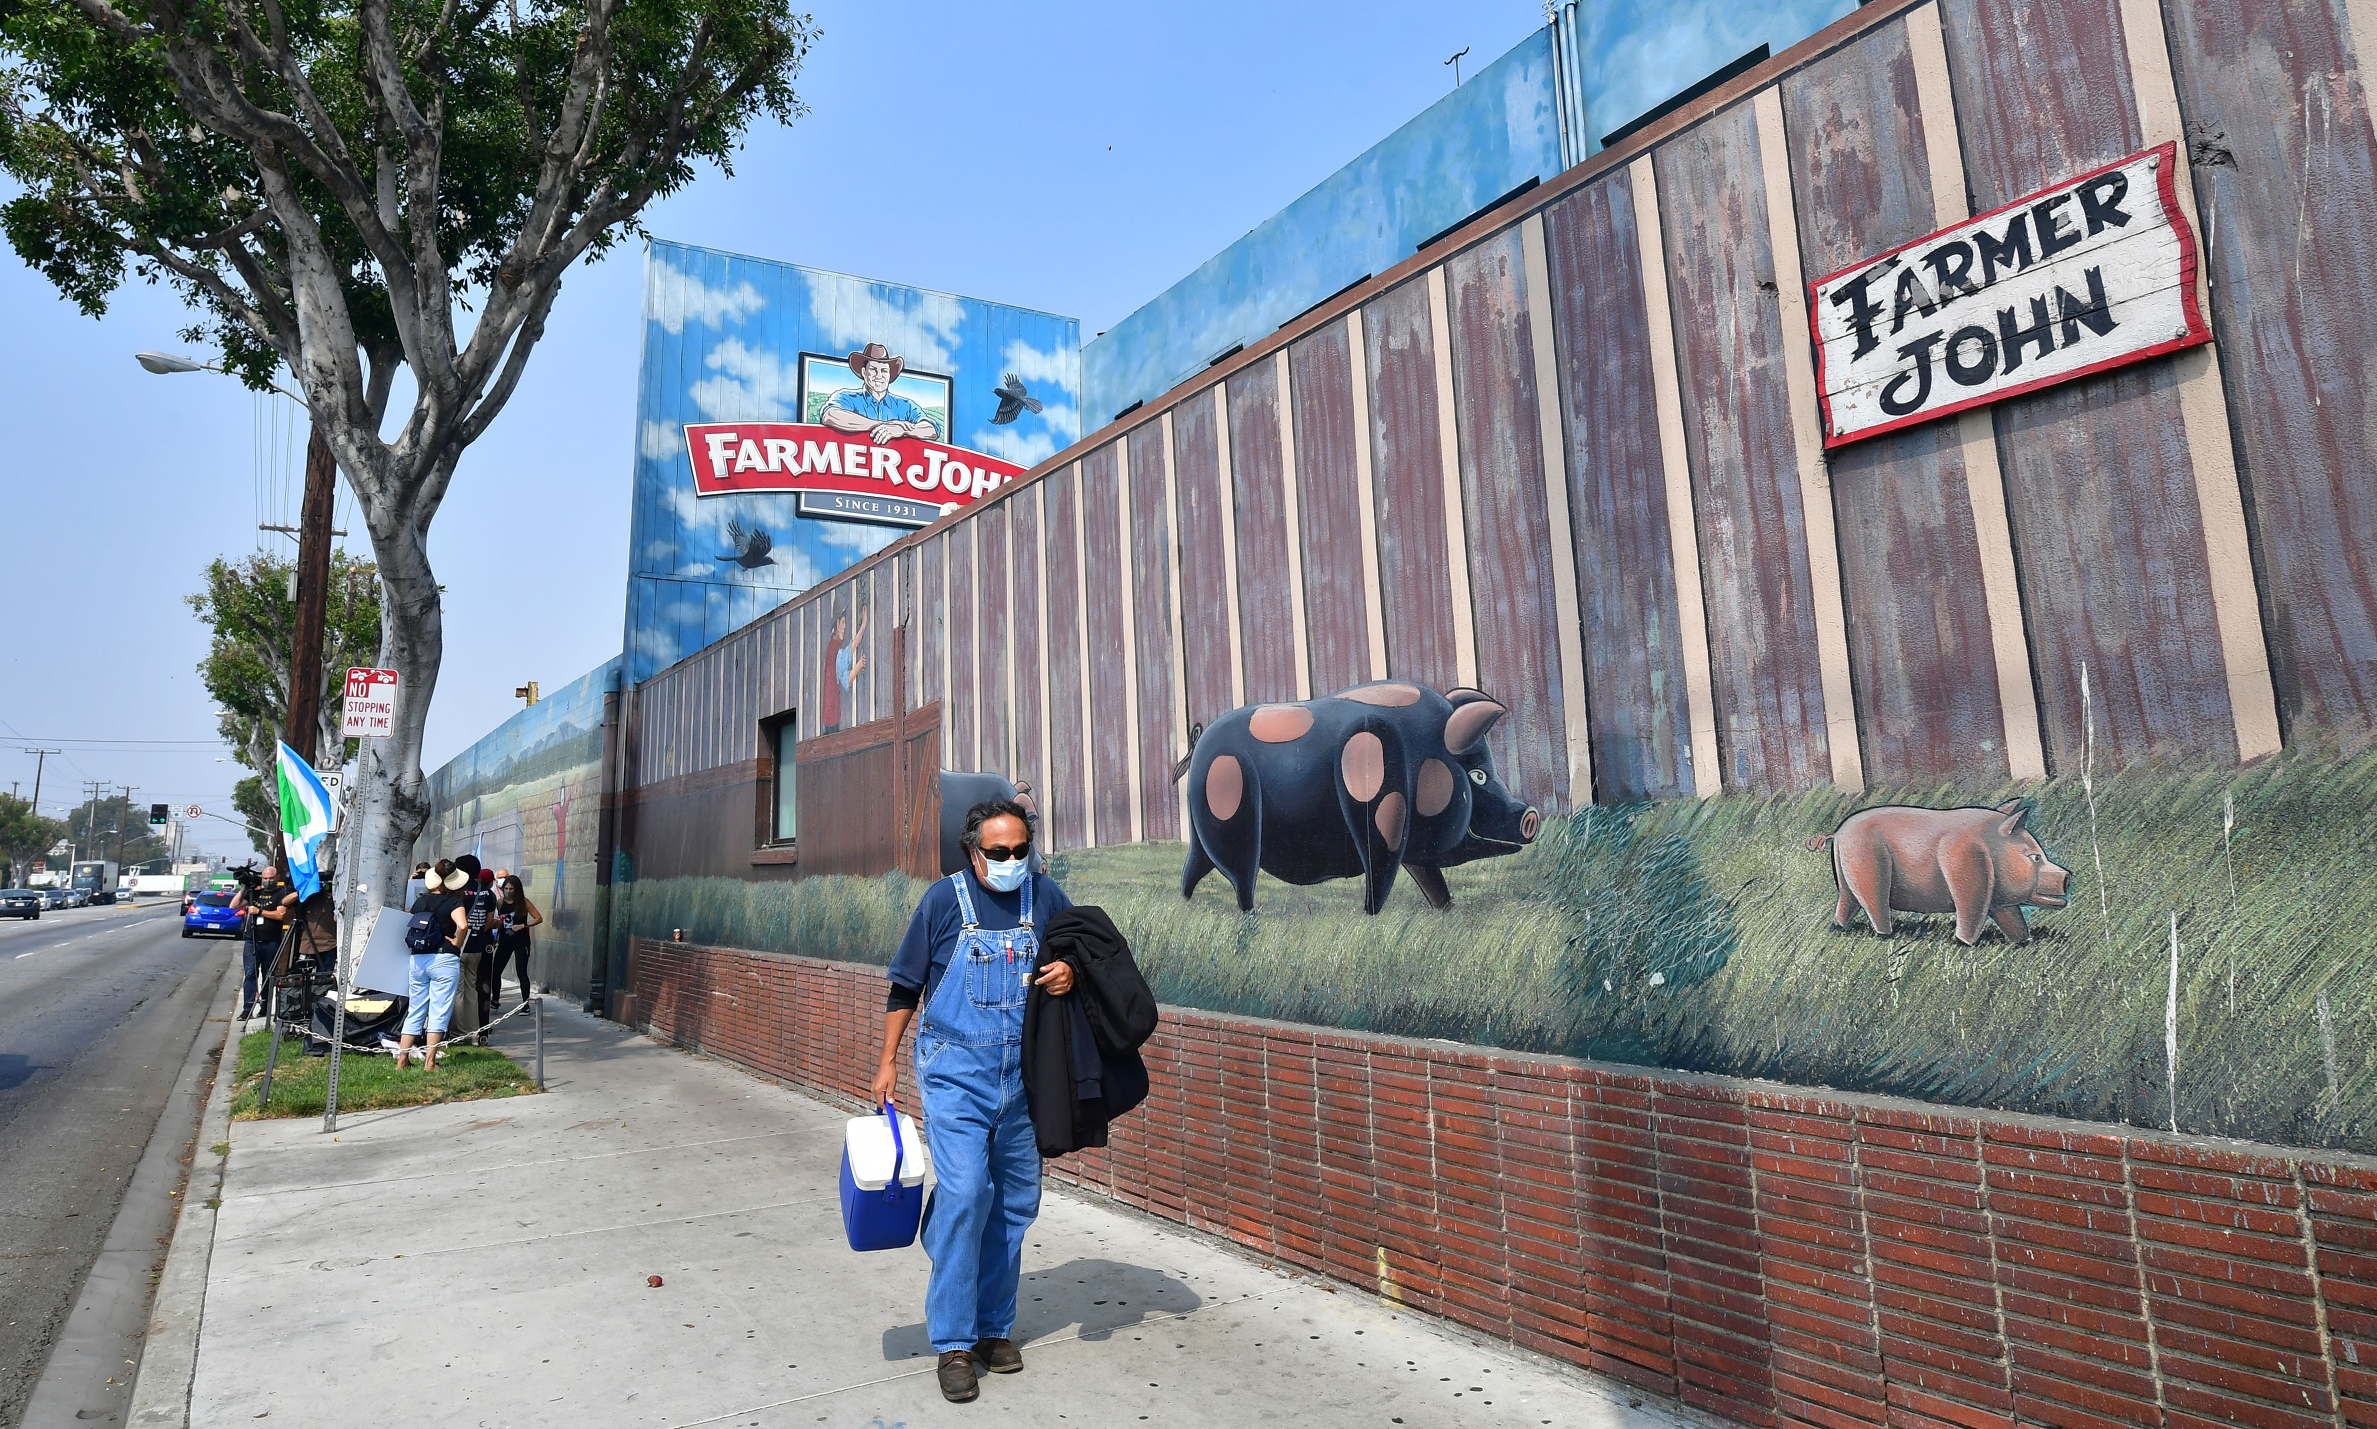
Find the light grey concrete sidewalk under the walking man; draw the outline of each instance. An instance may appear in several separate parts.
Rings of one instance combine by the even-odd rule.
[[[233,1125],[190,1424],[1700,1424],[1055,1186],[1024,1372],[944,1403],[922,1251],[841,1241],[846,1110],[547,1013],[544,1096]]]

